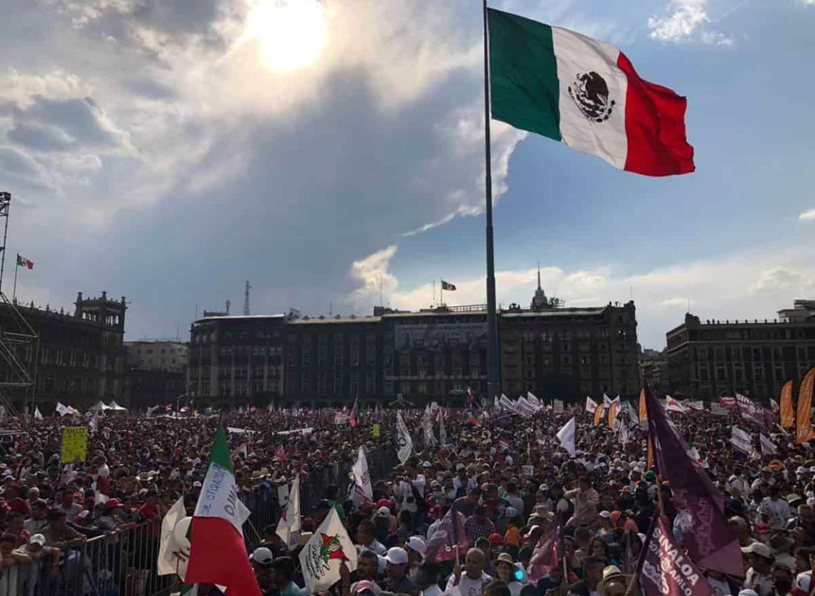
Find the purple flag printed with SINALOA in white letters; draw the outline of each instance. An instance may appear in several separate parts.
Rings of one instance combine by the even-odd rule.
[[[711,596],[713,590],[693,561],[676,546],[667,518],[659,516],[645,538],[640,586],[645,596]]]

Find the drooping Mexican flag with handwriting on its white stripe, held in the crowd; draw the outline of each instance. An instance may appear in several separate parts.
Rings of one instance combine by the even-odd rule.
[[[187,584],[218,584],[227,596],[261,596],[241,526],[245,520],[238,500],[227,435],[218,427],[209,468],[192,517]]]

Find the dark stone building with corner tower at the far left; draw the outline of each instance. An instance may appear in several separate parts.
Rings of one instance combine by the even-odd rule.
[[[9,401],[20,409],[33,398],[43,414],[57,401],[86,406],[116,400],[126,405],[122,379],[126,310],[124,296],[121,301],[109,300],[106,292],[96,298],[83,298],[79,292],[73,314],[0,304],[3,344],[10,346],[16,362],[33,380],[28,387],[7,388]],[[36,333],[36,340],[13,341],[24,325],[20,318]],[[15,377],[19,377],[15,366],[6,358],[0,360],[0,380],[13,382]]]

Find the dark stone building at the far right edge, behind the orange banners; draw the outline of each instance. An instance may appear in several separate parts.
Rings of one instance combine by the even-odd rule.
[[[778,398],[787,380],[797,387],[815,365],[815,313],[780,321],[705,322],[688,313],[684,324],[667,332],[667,357],[675,394]]]

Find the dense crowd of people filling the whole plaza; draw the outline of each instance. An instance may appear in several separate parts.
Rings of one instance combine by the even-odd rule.
[[[104,569],[94,572],[105,572],[105,594],[166,587],[154,576],[161,519],[178,497],[192,514],[218,425],[231,431],[240,497],[253,511],[245,528],[249,558],[265,595],[306,594],[299,551],[332,510],[358,550],[356,568],[343,564],[341,580],[328,590],[337,596],[623,596],[637,593],[637,557],[660,511],[681,545],[687,510],[649,469],[645,432],[636,421],[623,421],[627,432],[619,432],[594,426],[576,407],[530,416],[479,410],[434,411],[432,440],[421,425],[426,414],[403,411],[414,440],[403,463],[395,458],[398,433],[388,409],[360,413],[355,427],[320,410],[95,417],[86,462],[68,467],[59,462],[61,429],[88,419],[10,421],[7,428],[18,434],[3,438],[0,460],[0,592],[56,594],[48,586],[57,584],[49,582],[68,585],[95,537],[104,537],[104,564],[97,566]],[[555,438],[572,415],[574,456]],[[815,562],[809,445],[796,445],[777,427],[769,433],[777,454],[746,454],[729,439],[732,417],[709,411],[671,416],[725,496],[742,547],[742,576],[703,570],[711,592],[808,596]],[[759,429],[738,424],[755,435],[758,451]],[[373,497],[364,501],[351,498],[345,472],[359,447],[378,470]],[[275,534],[276,487],[332,469],[335,482],[312,486],[319,498],[302,506],[299,545],[289,548]],[[260,503],[269,503],[271,513],[256,515]],[[455,554],[439,556],[429,547],[448,511],[460,516],[464,534]],[[553,524],[564,527],[562,561],[541,574],[531,559]],[[217,590],[200,586],[199,594]]]

